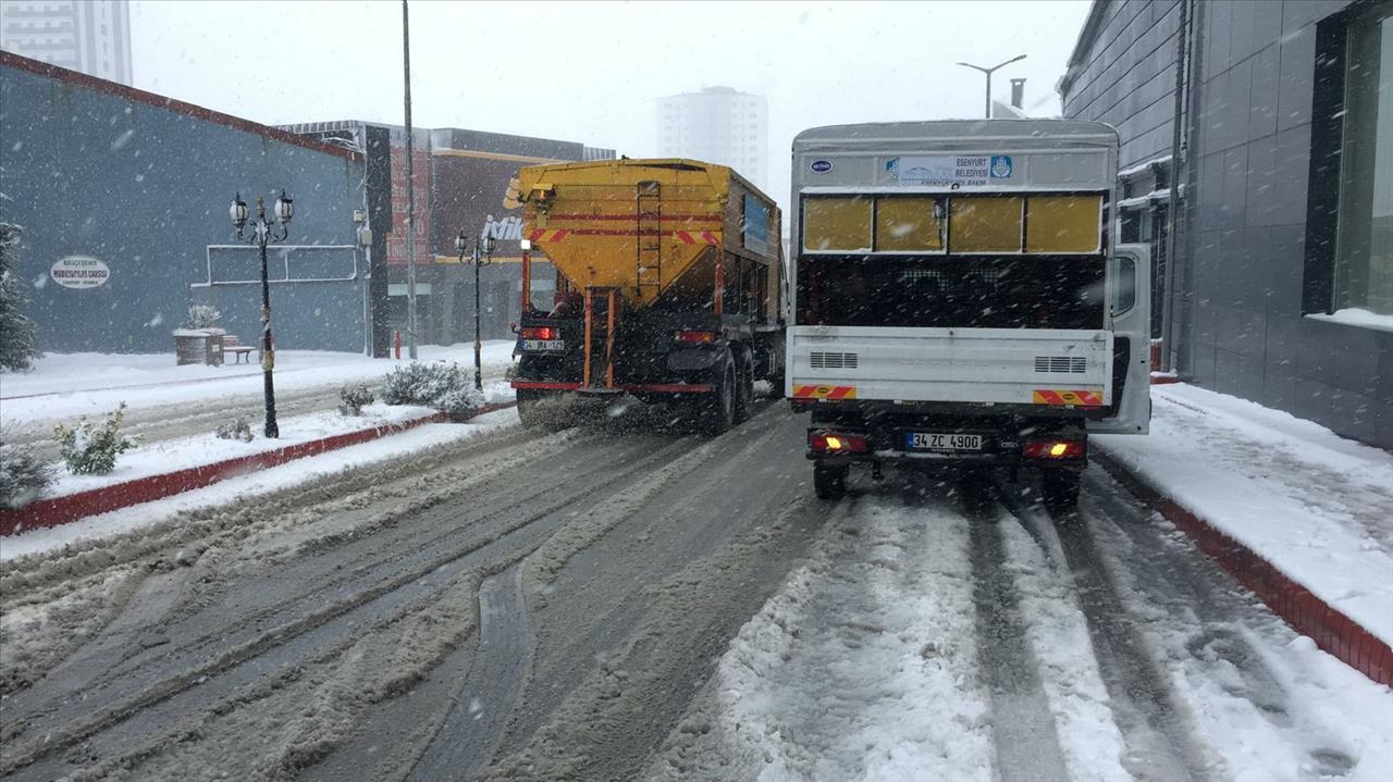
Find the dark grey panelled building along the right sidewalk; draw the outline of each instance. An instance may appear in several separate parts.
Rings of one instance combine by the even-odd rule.
[[[1095,0],[1064,114],[1119,128],[1181,378],[1393,448],[1393,1]],[[1173,256],[1173,257],[1170,257]]]

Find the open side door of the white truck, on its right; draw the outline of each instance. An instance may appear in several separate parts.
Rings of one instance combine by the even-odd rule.
[[[1092,434],[1146,434],[1151,429],[1151,250],[1145,245],[1117,245],[1107,302],[1113,344],[1126,353],[1126,370],[1114,369],[1121,383],[1116,415],[1088,422]]]

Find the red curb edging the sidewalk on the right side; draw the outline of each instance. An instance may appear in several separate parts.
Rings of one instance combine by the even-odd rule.
[[[1373,682],[1393,686],[1393,647],[1294,582],[1258,552],[1163,495],[1113,456],[1098,449],[1091,456],[1128,491],[1180,527],[1199,551],[1252,590],[1258,600],[1294,630],[1311,637],[1318,647]]]

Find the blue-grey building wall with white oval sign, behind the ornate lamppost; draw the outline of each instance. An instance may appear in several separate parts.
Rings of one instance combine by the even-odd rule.
[[[366,348],[359,152],[0,51],[0,220],[45,352],[170,353],[189,305],[260,333],[260,257],[228,203],[295,199],[269,253],[279,348]]]

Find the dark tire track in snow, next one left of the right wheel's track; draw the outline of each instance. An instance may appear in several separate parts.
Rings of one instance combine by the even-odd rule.
[[[964,483],[971,520],[976,647],[992,694],[992,728],[1002,782],[1068,782],[1055,715],[1020,615],[1020,596],[1006,569],[1002,513],[986,486]]]

